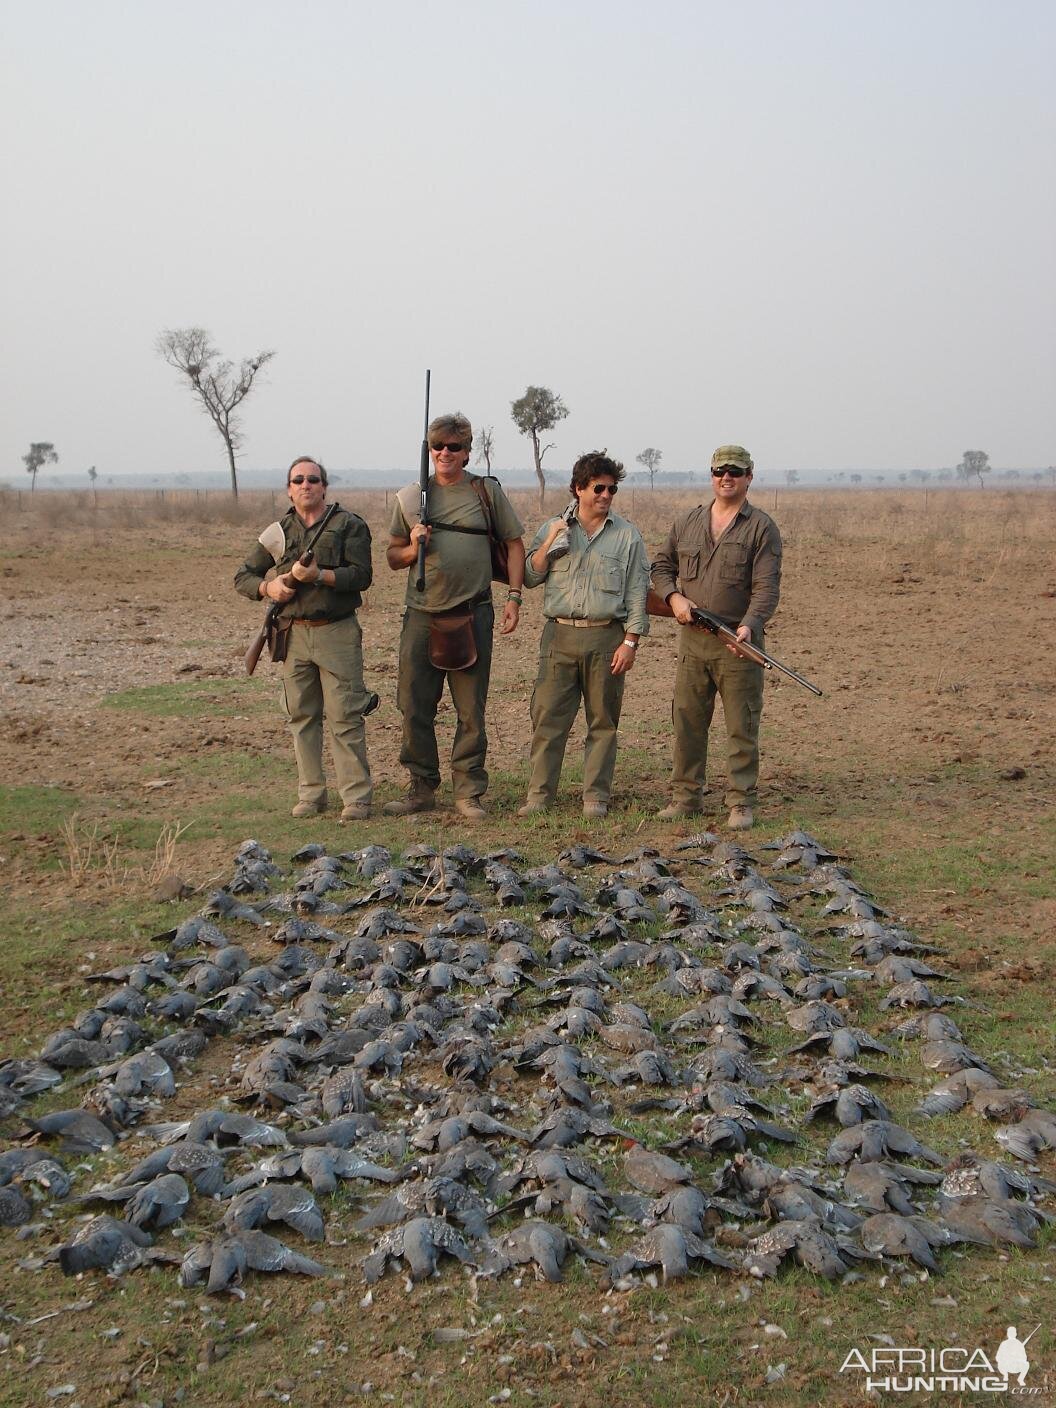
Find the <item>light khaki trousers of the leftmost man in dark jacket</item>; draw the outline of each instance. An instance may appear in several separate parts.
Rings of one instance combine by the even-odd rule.
[[[322,776],[322,717],[329,725],[334,770],[342,805],[369,803],[370,766],[366,760],[363,710],[363,632],[355,615],[325,625],[291,625],[283,665],[286,714],[297,759],[297,797],[325,796]]]

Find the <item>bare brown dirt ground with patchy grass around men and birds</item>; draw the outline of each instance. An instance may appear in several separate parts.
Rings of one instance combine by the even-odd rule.
[[[369,725],[382,801],[403,786],[394,694],[404,579],[384,565],[386,496],[339,486],[337,497],[363,513],[375,534],[376,584],[360,620],[367,676],[383,701]],[[535,496],[514,497],[534,529],[542,517]],[[0,777],[7,798],[0,828],[3,904],[11,943],[18,939],[28,953],[14,977],[10,972],[0,977],[7,1050],[15,1043],[39,1045],[55,1004],[84,1005],[83,945],[55,941],[49,917],[63,925],[77,908],[94,917],[93,966],[144,948],[141,929],[114,921],[120,886],[104,883],[101,873],[75,883],[68,838],[55,824],[56,812],[35,810],[37,790],[49,790],[49,807],[55,794],[68,796],[77,815],[104,826],[138,824],[156,832],[175,819],[193,822],[177,862],[197,886],[228,866],[231,828],[206,824],[224,814],[228,800],[238,801],[239,822],[248,818],[245,835],[259,835],[269,845],[280,836],[286,855],[293,831],[287,812],[294,772],[275,673],[262,665],[260,683],[245,681],[242,653],[259,617],[231,587],[245,549],[280,503],[272,496],[246,496],[232,508],[218,496],[206,501],[193,494],[165,500],[100,494],[97,505],[89,496],[35,498],[34,504],[28,496],[4,501],[7,534],[0,556],[8,601],[0,618]],[[781,490],[774,496],[762,489],[755,498],[774,513],[786,541],[781,608],[767,646],[825,691],[815,700],[794,684],[767,683],[760,832],[769,836],[779,828],[808,826],[852,857],[856,876],[915,929],[941,936],[949,950],[946,966],[984,1004],[980,1021],[988,1024],[991,1046],[1007,1039],[1018,1043],[1021,1057],[1036,1053],[1036,1088],[1050,1098],[1056,1088],[1050,1017],[1056,698],[1046,662],[1056,650],[1056,494],[945,491],[925,498],[919,490]],[[618,507],[655,551],[670,520],[690,501],[628,489]],[[560,507],[558,496],[548,503],[549,513]],[[628,681],[612,815],[589,834],[570,783],[567,804],[543,829],[513,817],[524,784],[539,627],[539,601],[529,594],[520,631],[497,641],[489,712],[493,817],[466,835],[453,812],[439,814],[432,831],[446,828],[445,841],[520,845],[534,857],[556,852],[573,836],[597,838],[607,848],[669,843],[686,829],[663,826],[653,815],[665,803],[670,756],[676,628],[669,622],[655,622]],[[449,732],[451,724],[445,707],[444,729]],[[573,734],[570,765],[580,736]],[[712,759],[710,819],[721,821],[721,718]],[[259,815],[246,810],[245,796],[259,796]],[[363,845],[372,828],[365,824],[339,834],[334,826],[332,832],[342,845]],[[432,831],[428,839],[435,839]],[[424,838],[407,829],[403,839]],[[130,900],[128,912],[146,905],[142,884]],[[156,911],[146,912],[152,922]],[[27,915],[35,918],[30,922]],[[24,924],[24,932],[11,929],[10,917]],[[201,1081],[214,1074],[203,1070]],[[197,1091],[189,1084],[180,1098],[193,1101]],[[962,1308],[952,1314],[962,1329],[998,1319],[1004,1326],[1019,1273],[1000,1266],[1001,1260],[986,1263],[988,1270],[979,1280],[953,1284]],[[10,1271],[10,1262],[4,1264]],[[137,1322],[135,1308],[122,1300],[134,1288],[100,1290],[97,1281],[89,1291],[80,1283],[54,1284],[42,1273],[13,1283],[14,1302],[4,1293],[0,1301],[14,1305],[20,1316],[58,1311],[63,1326],[70,1305],[93,1304],[83,1309],[83,1319],[92,1321],[96,1338],[86,1340],[86,1331],[77,1339],[73,1328],[63,1338],[51,1322],[32,1332],[13,1331],[11,1363],[18,1373],[7,1388],[0,1387],[0,1404],[42,1401],[49,1387],[83,1377],[86,1343],[99,1346],[93,1354],[100,1363],[87,1376],[96,1397],[84,1397],[84,1404],[159,1401],[161,1393],[149,1384],[162,1383],[166,1366],[175,1374],[177,1364],[199,1374],[184,1401],[213,1404],[249,1394],[314,1404],[363,1397],[353,1393],[348,1374],[335,1380],[346,1398],[335,1398],[325,1381],[313,1387],[307,1371],[286,1362],[283,1336],[287,1326],[296,1326],[297,1364],[317,1364],[310,1356],[317,1353],[311,1345],[322,1302],[311,1284],[253,1293],[245,1314],[237,1307],[199,1311],[193,1298],[162,1301],[152,1293],[149,1304],[165,1309],[151,1326]],[[942,1295],[950,1281],[945,1293],[907,1290],[901,1305],[897,1295],[881,1301],[887,1307],[883,1328],[911,1322],[922,1336],[915,1342],[942,1343],[943,1318],[949,1322],[949,1311],[941,1308],[949,1300]],[[1031,1324],[1042,1314],[1052,1318],[1050,1284],[1043,1266],[1029,1286],[1019,1283],[1021,1298],[1029,1302],[1022,1315],[1029,1314]],[[348,1294],[341,1315],[355,1353],[355,1336],[362,1333],[355,1322],[362,1316],[355,1309],[358,1291]],[[597,1401],[600,1374],[612,1404],[681,1401],[687,1374],[697,1384],[728,1380],[732,1387],[724,1401],[729,1402],[763,1397],[817,1402],[819,1395],[829,1402],[852,1401],[853,1395],[838,1395],[831,1378],[818,1377],[819,1366],[831,1369],[826,1331],[818,1326],[831,1326],[848,1308],[838,1291],[796,1273],[769,1287],[769,1298],[758,1304],[790,1333],[769,1354],[788,1363],[777,1388],[763,1380],[767,1354],[760,1357],[758,1347],[760,1319],[746,1316],[734,1331],[729,1321],[719,1325],[717,1319],[715,1338],[708,1340],[710,1294],[704,1283],[670,1294],[646,1293],[605,1321],[601,1316],[608,1311],[591,1295],[586,1277],[539,1293],[525,1287],[517,1300],[527,1309],[514,1315],[501,1298],[487,1307],[496,1311],[496,1325],[500,1318],[508,1325],[511,1315],[522,1316],[514,1339],[505,1328],[489,1329],[486,1307],[456,1307],[448,1281],[422,1293],[415,1302],[421,1324],[411,1328],[401,1288],[387,1284],[379,1288],[372,1321],[372,1362],[356,1366],[356,1376],[358,1381],[370,1378],[387,1401],[401,1402],[435,1401],[438,1385],[448,1395],[442,1401],[453,1401],[453,1385],[465,1380],[465,1402],[483,1402],[505,1385],[515,1402],[586,1404]],[[20,1295],[31,1295],[32,1304],[20,1304]],[[342,1295],[332,1297],[332,1305]],[[453,1307],[477,1316],[473,1347],[422,1338],[422,1326],[436,1331],[452,1324]],[[696,1347],[689,1339],[679,1347],[680,1336],[690,1335],[677,1329],[683,1312],[686,1325],[694,1319],[704,1326],[693,1340]],[[853,1305],[850,1315],[865,1326],[869,1308]],[[268,1322],[268,1336],[238,1339],[251,1316],[253,1324]],[[577,1324],[583,1332],[573,1329]],[[130,1332],[103,1343],[99,1336],[111,1325]],[[596,1331],[601,1331],[598,1343]],[[560,1343],[573,1347],[553,1353],[548,1345],[560,1336]],[[408,1354],[407,1343],[418,1347]],[[1046,1346],[1052,1360],[1050,1338],[1042,1335],[1035,1345]],[[4,1332],[0,1354],[7,1352]],[[228,1353],[227,1363],[237,1366],[230,1373],[213,1364],[214,1354],[218,1360]],[[734,1360],[752,1366],[741,1380],[728,1369]]]

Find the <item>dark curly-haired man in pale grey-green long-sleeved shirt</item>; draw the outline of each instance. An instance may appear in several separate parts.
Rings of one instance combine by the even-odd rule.
[[[624,679],[649,629],[645,543],[634,524],[611,511],[622,477],[624,466],[604,451],[582,455],[569,484],[574,515],[543,524],[528,553],[525,586],[545,583],[546,625],[532,690],[532,776],[520,817],[553,805],[580,700],[587,721],[583,815],[608,811]],[[559,555],[553,549],[565,532],[567,551]]]

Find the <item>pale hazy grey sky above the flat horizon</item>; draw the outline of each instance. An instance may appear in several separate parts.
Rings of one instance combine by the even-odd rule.
[[[222,469],[153,355],[277,356],[242,465],[1056,462],[1052,0],[0,4],[0,479]],[[45,470],[46,474],[46,470]]]

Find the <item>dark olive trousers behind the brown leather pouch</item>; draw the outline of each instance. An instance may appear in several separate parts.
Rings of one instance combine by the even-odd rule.
[[[484,710],[491,676],[491,636],[496,612],[490,601],[473,607],[473,635],[477,662],[467,670],[438,670],[429,660],[428,611],[404,611],[400,631],[400,676],[396,703],[403,714],[400,762],[434,791],[439,787],[436,750],[436,705],[448,681],[458,714],[455,742],[451,749],[451,790],[455,800],[483,797],[487,791],[487,732]]]

